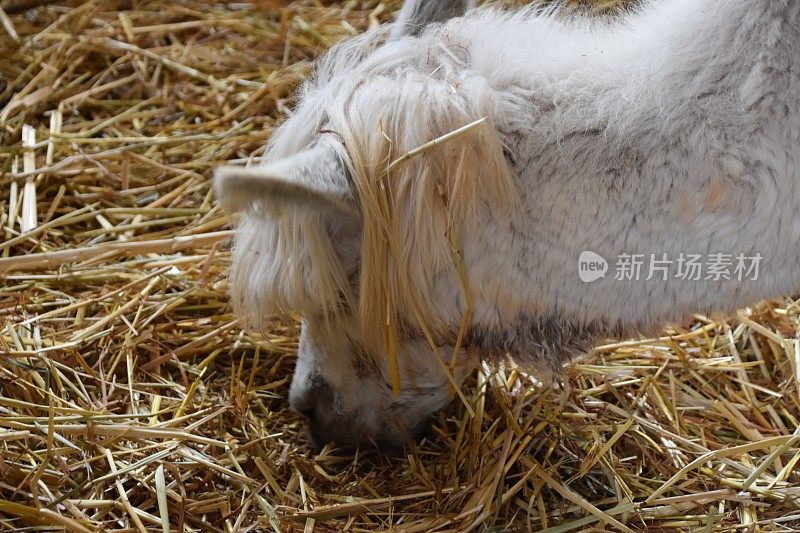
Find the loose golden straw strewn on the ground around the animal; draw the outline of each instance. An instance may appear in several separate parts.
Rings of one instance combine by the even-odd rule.
[[[0,5],[0,530],[800,527],[791,300],[601,347],[563,390],[487,367],[405,456],[308,450],[297,328],[231,315],[209,176],[398,2]]]

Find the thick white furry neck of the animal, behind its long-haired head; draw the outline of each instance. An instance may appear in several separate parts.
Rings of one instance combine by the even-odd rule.
[[[507,89],[526,214],[487,209],[471,230],[470,345],[557,366],[598,337],[798,288],[799,12],[798,0],[650,4],[627,30],[583,43],[616,54],[602,69],[576,59],[559,81]],[[521,95],[541,93],[516,122]],[[608,271],[584,283],[587,250]],[[707,269],[717,253],[732,261],[727,279],[675,277],[681,254]],[[616,279],[625,255],[643,262],[636,279]],[[673,270],[646,279],[665,255]],[[739,255],[761,258],[756,279],[736,279]]]

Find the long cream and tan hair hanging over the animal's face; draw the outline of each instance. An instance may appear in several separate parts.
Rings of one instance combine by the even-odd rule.
[[[361,213],[360,264],[353,271],[343,260],[331,238],[337,222],[325,214],[304,206],[244,213],[231,292],[255,327],[281,311],[334,316],[345,300],[372,347],[384,347],[387,331],[406,325],[447,338],[453,324],[437,312],[436,284],[458,278],[460,234],[475,223],[476,202],[506,212],[514,205],[512,173],[491,122],[387,172],[409,151],[494,116],[494,102],[484,78],[459,68],[465,58],[458,47],[412,39],[381,47],[384,37],[379,30],[334,47],[268,147],[276,160],[320,132],[342,140]]]

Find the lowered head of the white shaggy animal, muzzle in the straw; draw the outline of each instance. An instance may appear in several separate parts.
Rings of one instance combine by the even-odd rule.
[[[444,18],[433,5],[450,15],[468,6],[424,4],[403,8],[404,32]],[[489,116],[492,102],[457,55],[403,35],[384,45],[378,30],[335,47],[273,134],[266,164],[215,177],[225,210],[241,213],[237,312],[257,328],[275,313],[302,317],[290,403],[318,445],[402,444],[477,363],[461,348],[459,241],[477,223],[476,199],[508,194],[510,172],[491,127],[410,157]]]

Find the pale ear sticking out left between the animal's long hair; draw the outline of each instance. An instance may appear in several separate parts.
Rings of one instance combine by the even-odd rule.
[[[328,137],[265,166],[219,167],[214,189],[225,211],[302,206],[323,214],[358,214],[347,177],[347,154],[341,143]]]

